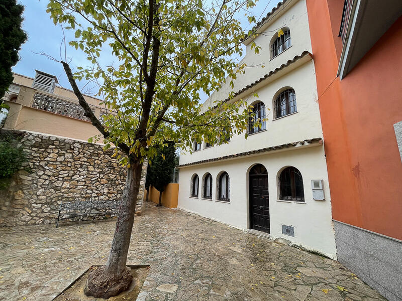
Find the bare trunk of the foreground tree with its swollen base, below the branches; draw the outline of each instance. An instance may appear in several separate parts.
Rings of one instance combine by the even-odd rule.
[[[105,267],[98,268],[97,272],[94,270],[91,272],[93,275],[89,275],[85,285],[86,295],[109,298],[126,290],[132,282],[131,269],[126,268],[126,263],[140,189],[142,164],[135,162],[130,164],[108,261]]]

